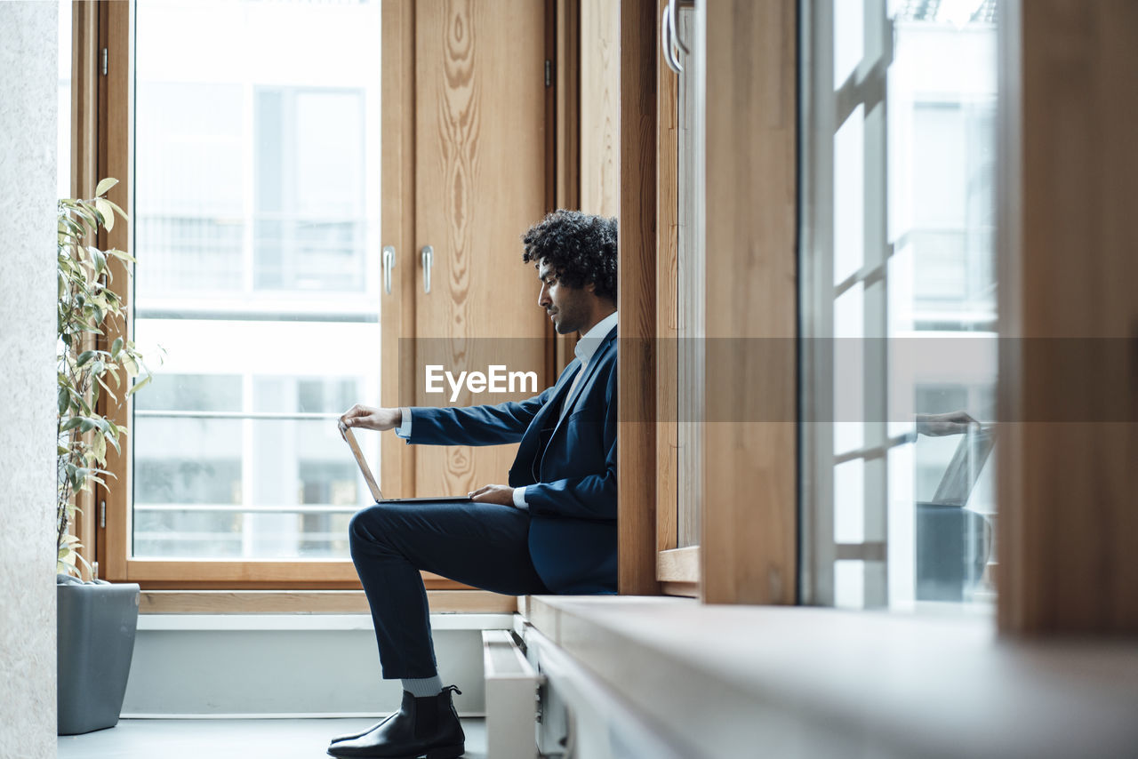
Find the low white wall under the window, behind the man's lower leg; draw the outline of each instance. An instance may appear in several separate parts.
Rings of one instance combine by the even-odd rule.
[[[483,627],[505,614],[431,614],[439,676],[462,695],[459,713],[485,710]],[[399,680],[380,677],[371,618],[139,618],[124,717],[372,716],[398,708]]]

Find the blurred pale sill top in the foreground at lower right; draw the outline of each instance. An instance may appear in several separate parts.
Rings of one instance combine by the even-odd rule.
[[[1138,745],[1132,642],[1013,642],[976,617],[686,599],[526,607],[685,756],[1119,757]]]

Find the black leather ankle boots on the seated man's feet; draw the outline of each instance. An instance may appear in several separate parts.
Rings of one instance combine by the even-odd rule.
[[[328,746],[332,757],[376,757],[379,759],[455,759],[465,750],[467,736],[459,724],[451,693],[462,691],[447,685],[438,695],[417,699],[403,692],[399,710],[360,735],[333,739]]]

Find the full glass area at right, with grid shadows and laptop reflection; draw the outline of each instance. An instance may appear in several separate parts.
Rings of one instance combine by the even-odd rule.
[[[803,5],[805,595],[991,599],[997,5]]]

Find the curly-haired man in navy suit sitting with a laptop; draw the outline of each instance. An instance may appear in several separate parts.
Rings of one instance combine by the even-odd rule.
[[[385,678],[403,680],[398,712],[332,741],[333,757],[450,759],[464,736],[443,687],[420,570],[526,595],[617,589],[617,224],[558,211],[522,238],[541,280],[537,305],[561,335],[580,333],[556,383],[520,403],[468,409],[353,406],[346,427],[395,429],[407,443],[518,443],[509,485],[469,503],[377,504],[349,527]]]

